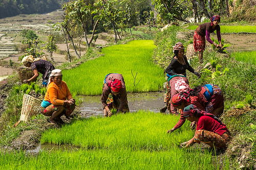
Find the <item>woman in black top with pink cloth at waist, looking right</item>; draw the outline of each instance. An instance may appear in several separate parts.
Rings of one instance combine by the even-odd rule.
[[[166,106],[162,108],[160,112],[165,112],[165,110],[168,109],[169,113],[178,115],[177,109],[173,107],[172,103],[170,103],[170,99],[172,99],[173,95],[180,92],[187,92],[190,89],[186,78],[186,70],[193,72],[198,78],[201,76],[187,62],[187,58],[184,55],[184,46],[181,42],[176,43],[173,50],[173,60],[165,69],[166,76],[168,77],[166,96],[164,98]]]

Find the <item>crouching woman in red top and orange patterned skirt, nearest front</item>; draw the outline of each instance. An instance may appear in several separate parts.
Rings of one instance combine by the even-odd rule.
[[[195,136],[190,140],[181,143],[181,147],[187,148],[194,143],[204,142],[210,147],[226,148],[227,142],[231,139],[230,133],[225,124],[215,115],[197,109],[195,105],[184,108],[183,115],[190,122],[197,122]]]

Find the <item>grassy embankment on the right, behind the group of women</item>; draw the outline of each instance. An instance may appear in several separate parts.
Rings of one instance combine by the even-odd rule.
[[[171,27],[165,32],[159,32],[156,36],[155,44],[157,48],[153,58],[157,64],[162,65],[164,68],[167,67],[168,62],[173,57],[173,54],[166,53],[172,51],[172,45],[178,41],[186,44],[189,40],[177,39],[173,35],[173,32],[177,32],[177,30],[181,31],[178,27]],[[190,39],[193,39],[193,37],[190,37]],[[254,52],[245,52],[245,54],[250,53],[253,54]],[[242,53],[236,53],[236,59],[240,55]],[[199,64],[197,54],[190,60],[190,65],[200,72],[201,78],[197,79],[189,71],[187,71],[187,78],[191,88],[207,83],[217,84],[221,87],[225,106],[221,119],[233,135],[233,139],[228,147],[228,154],[231,159],[234,159],[245,157],[249,153],[250,156],[246,157],[246,159],[240,159],[240,163],[246,167],[252,167],[256,159],[256,111],[250,110],[246,106],[250,102],[254,103],[253,105],[255,106],[256,67],[251,62],[240,62],[236,59],[232,56],[223,56],[213,51],[211,46],[206,46],[203,64]],[[206,63],[211,65],[204,69],[203,67]],[[246,100],[248,95],[251,96],[251,101]],[[232,110],[233,107],[238,105],[244,108]],[[239,160],[234,159],[234,161],[238,162]]]

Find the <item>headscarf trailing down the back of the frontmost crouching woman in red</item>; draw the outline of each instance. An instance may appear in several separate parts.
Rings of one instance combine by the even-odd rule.
[[[188,106],[185,107],[184,110],[183,110],[183,115],[184,115],[184,117],[194,116],[195,113],[197,113],[197,114],[200,115],[200,116],[203,116],[203,115],[209,116],[209,117],[211,117],[211,118],[217,120],[217,122],[219,122],[220,124],[222,124],[221,120],[220,120],[218,117],[216,117],[215,115],[210,114],[210,113],[208,113],[208,112],[206,112],[206,111],[203,111],[203,110],[198,109],[195,105],[188,105]],[[222,124],[222,125],[225,125],[225,124]],[[226,125],[225,125],[225,126],[226,126]]]

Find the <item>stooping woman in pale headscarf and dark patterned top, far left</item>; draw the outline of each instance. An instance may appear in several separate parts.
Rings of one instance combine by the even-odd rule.
[[[26,67],[31,67],[34,72],[34,76],[28,80],[24,80],[23,83],[28,83],[36,80],[36,78],[39,76],[38,72],[40,72],[42,74],[42,85],[44,85],[45,87],[48,84],[51,71],[55,69],[55,67],[49,61],[42,60],[40,58],[34,58],[31,55],[24,57],[22,59],[22,64]]]

